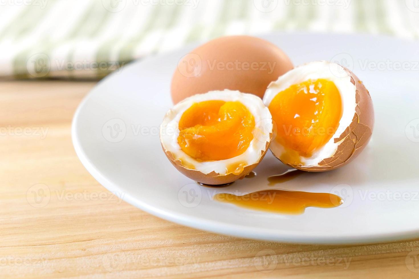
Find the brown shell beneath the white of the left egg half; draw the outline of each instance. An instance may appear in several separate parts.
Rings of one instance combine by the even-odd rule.
[[[220,175],[217,174],[215,171],[210,172],[209,174],[204,174],[201,171],[198,170],[194,170],[194,169],[186,169],[180,160],[175,160],[173,158],[173,155],[170,151],[166,150],[166,148],[164,148],[163,144],[162,144],[162,148],[164,153],[166,154],[167,158],[169,159],[169,161],[171,161],[171,163],[173,164],[173,166],[175,166],[175,168],[180,171],[182,174],[184,174],[184,176],[189,177],[190,179],[202,183],[202,184],[208,184],[208,185],[221,185],[221,184],[228,184],[231,182],[236,181],[237,179],[241,179],[243,177],[245,177],[246,175],[248,175],[258,164],[259,162],[263,159],[263,157],[266,154],[266,151],[268,150],[269,147],[269,143],[272,139],[272,133],[269,134],[269,141],[266,141],[266,146],[265,146],[265,150],[263,150],[261,152],[261,158],[259,159],[259,161],[257,161],[255,164],[246,166],[243,171],[241,172],[241,174],[236,175],[233,173],[230,174],[226,174],[226,175]]]

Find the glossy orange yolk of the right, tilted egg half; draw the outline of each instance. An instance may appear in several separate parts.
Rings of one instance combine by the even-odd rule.
[[[275,140],[286,149],[287,162],[310,157],[335,134],[342,117],[342,100],[334,82],[307,80],[279,92],[269,104],[277,125]]]

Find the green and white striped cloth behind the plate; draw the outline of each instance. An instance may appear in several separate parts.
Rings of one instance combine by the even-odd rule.
[[[99,79],[133,59],[233,34],[419,37],[419,0],[0,0],[0,76]]]

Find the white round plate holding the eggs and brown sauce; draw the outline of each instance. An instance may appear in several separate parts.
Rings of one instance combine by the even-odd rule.
[[[172,106],[172,73],[191,48],[132,63],[87,95],[72,125],[75,150],[86,169],[142,210],[216,233],[298,243],[419,237],[418,43],[364,35],[264,38],[281,47],[295,65],[313,60],[347,65],[370,90],[376,120],[365,151],[336,171],[302,175],[274,187],[337,193],[345,198],[343,205],[281,215],[212,200],[218,192],[270,188],[266,178],[286,169],[270,152],[255,169],[256,177],[219,189],[197,185],[171,165],[161,150],[158,127]]]

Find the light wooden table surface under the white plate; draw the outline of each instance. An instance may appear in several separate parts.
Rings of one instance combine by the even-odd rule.
[[[94,82],[0,82],[0,277],[418,277],[419,240],[254,241],[161,220],[85,170],[70,127]]]

